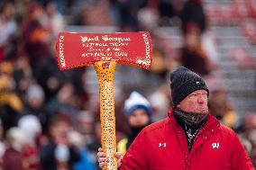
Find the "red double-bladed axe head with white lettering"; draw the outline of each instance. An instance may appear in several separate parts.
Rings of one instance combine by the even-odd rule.
[[[59,69],[82,67],[97,61],[116,61],[149,69],[152,61],[150,33],[60,32],[56,42]]]

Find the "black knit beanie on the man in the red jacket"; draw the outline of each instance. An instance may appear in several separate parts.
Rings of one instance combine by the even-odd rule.
[[[181,102],[188,94],[202,89],[206,90],[209,95],[204,79],[186,67],[178,67],[170,74],[170,90],[174,105]]]

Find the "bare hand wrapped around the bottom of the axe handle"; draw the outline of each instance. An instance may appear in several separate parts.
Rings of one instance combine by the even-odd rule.
[[[98,166],[100,168],[103,168],[103,166],[106,166],[107,163],[107,158],[106,154],[103,152],[103,148],[98,148],[98,153],[97,153],[97,161],[98,161]],[[121,160],[123,158],[122,154],[120,152],[116,152],[114,154],[114,157],[117,158],[117,167],[121,166]]]

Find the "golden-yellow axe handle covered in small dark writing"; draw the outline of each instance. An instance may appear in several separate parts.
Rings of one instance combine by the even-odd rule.
[[[109,67],[103,67],[110,63]],[[99,80],[101,144],[108,159],[104,170],[116,170],[115,117],[114,117],[114,70],[115,61],[98,61],[94,63]]]

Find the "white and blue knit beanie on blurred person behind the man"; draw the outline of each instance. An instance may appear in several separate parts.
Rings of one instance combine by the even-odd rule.
[[[130,116],[131,113],[137,109],[144,109],[149,116],[151,116],[151,104],[142,94],[133,92],[129,98],[124,102],[124,112],[126,116]]]

